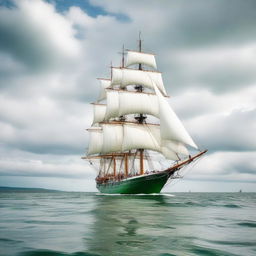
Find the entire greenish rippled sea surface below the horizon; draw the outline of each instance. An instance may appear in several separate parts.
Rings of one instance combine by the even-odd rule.
[[[0,255],[256,255],[256,193],[0,193]]]

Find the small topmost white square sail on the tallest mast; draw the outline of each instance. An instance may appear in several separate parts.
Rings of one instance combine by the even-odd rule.
[[[128,51],[126,57],[126,67],[134,64],[144,64],[149,67],[157,69],[154,54]]]

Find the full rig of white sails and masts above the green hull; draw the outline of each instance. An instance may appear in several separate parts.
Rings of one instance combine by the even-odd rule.
[[[139,38],[138,51],[127,51],[126,64],[123,47],[121,66],[111,65],[111,78],[99,79],[102,89],[93,103],[94,120],[88,129],[90,143],[85,157],[100,159],[99,178],[143,175],[145,150],[179,161],[181,155],[189,156],[187,145],[197,148],[164,98],[167,93],[162,74],[156,71],[155,55],[142,52],[141,43]],[[130,68],[134,65],[138,68]],[[144,70],[142,65],[151,69]],[[103,100],[106,102],[101,103]],[[157,117],[160,125],[147,123],[147,115]],[[134,167],[135,162],[139,168]]]

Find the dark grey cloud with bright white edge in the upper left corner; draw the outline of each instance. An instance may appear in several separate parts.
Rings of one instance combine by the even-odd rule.
[[[30,69],[50,69],[80,53],[72,25],[46,2],[22,0],[0,10],[0,50]]]

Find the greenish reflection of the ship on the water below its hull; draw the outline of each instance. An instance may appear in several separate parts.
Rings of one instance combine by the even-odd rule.
[[[91,253],[157,255],[172,242],[177,246],[175,215],[165,196],[98,196],[93,215],[91,233],[85,234]]]

